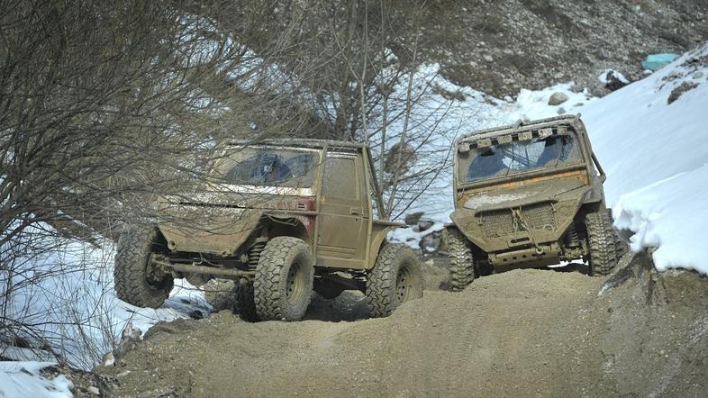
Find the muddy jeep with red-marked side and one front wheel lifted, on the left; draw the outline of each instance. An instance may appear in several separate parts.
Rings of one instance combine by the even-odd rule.
[[[372,316],[422,297],[422,270],[408,247],[386,242],[403,227],[372,216],[381,207],[368,147],[340,141],[233,144],[215,162],[218,183],[163,196],[156,225],[127,226],[118,240],[115,290],[158,307],[173,279],[233,279],[234,310],[249,321],[302,319],[313,290],[367,295]]]

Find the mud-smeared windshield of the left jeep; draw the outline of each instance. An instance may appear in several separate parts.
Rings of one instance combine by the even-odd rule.
[[[313,186],[316,151],[281,148],[242,148],[217,164],[219,176],[231,185]]]

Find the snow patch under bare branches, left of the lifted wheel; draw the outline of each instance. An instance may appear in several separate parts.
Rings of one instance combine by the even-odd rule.
[[[144,333],[158,321],[211,312],[204,293],[181,279],[158,309],[121,301],[113,290],[113,253],[109,241],[101,248],[69,241],[36,257],[27,253],[27,258],[17,258],[13,266],[0,270],[0,295],[7,298],[5,317],[17,322],[11,324],[14,332],[35,347],[48,344],[71,366],[87,370],[113,349],[129,321]],[[23,324],[32,325],[32,330],[24,330]],[[0,354],[16,360],[43,355],[2,346]]]

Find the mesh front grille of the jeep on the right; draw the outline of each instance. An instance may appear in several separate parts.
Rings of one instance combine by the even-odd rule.
[[[526,225],[531,230],[554,231],[556,229],[556,218],[550,203],[522,206],[520,213],[522,222],[514,220],[516,216],[513,215],[512,209],[482,213],[480,221],[484,237],[489,239],[511,235],[514,232],[514,224],[519,231],[524,230],[522,225]]]

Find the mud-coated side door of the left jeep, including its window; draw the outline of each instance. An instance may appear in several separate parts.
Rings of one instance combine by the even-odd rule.
[[[369,222],[362,157],[356,149],[328,151],[323,166],[317,264],[362,267]]]

